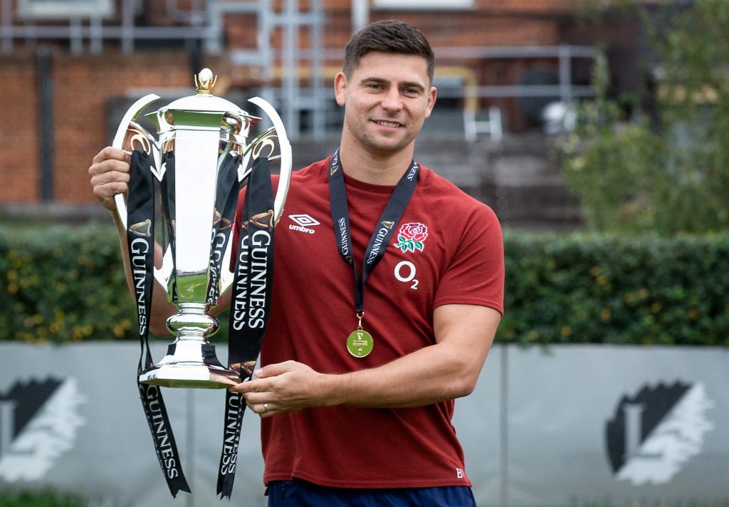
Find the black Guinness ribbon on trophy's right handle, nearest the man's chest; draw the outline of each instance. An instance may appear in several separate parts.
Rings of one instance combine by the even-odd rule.
[[[246,187],[230,300],[228,368],[238,372],[241,382],[253,375],[268,324],[273,285],[273,222],[273,187],[268,158],[258,158]],[[221,499],[230,500],[233,492],[245,409],[243,397],[227,391],[217,480],[217,493]]]

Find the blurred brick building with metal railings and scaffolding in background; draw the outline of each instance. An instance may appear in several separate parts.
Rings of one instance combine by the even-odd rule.
[[[352,31],[372,20],[407,20],[429,37],[440,69],[439,107],[458,118],[471,115],[472,123],[459,123],[459,135],[465,131],[472,142],[488,137],[493,118],[480,118],[490,108],[497,108],[507,133],[530,131],[539,127],[548,102],[589,96],[593,44],[604,37],[619,49],[630,29],[605,28],[605,18],[595,23],[592,4],[7,1],[0,68],[12,86],[0,94],[0,206],[93,204],[87,168],[111,142],[125,107],[146,93],[192,93],[192,75],[203,66],[219,74],[219,95],[244,101],[258,94],[272,101],[293,139],[335,136],[340,115],[332,77]],[[486,128],[476,131],[478,125]]]

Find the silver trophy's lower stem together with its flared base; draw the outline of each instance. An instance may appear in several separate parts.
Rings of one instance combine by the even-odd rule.
[[[218,320],[208,314],[208,303],[184,302],[167,320],[175,335],[167,355],[144,371],[139,382],[163,387],[222,389],[238,384],[239,376],[225,368],[215,355],[208,336],[217,331]]]

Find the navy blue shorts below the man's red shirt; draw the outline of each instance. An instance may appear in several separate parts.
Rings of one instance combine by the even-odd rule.
[[[476,507],[467,486],[351,489],[271,481],[268,507]]]

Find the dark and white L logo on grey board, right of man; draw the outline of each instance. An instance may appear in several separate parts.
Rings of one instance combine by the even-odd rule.
[[[607,454],[615,477],[642,484],[666,484],[701,452],[714,424],[714,408],[700,382],[646,385],[623,395],[607,422]]]

